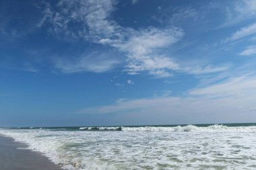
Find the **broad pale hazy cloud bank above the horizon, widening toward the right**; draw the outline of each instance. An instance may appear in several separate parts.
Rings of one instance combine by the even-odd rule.
[[[165,121],[180,123],[181,120],[182,123],[253,122],[256,121],[255,100],[256,77],[245,75],[194,89],[187,97],[125,99],[113,105],[87,108],[79,112],[115,113],[119,114],[120,118],[125,115],[129,115],[129,118],[136,116],[140,122],[151,120],[161,124]]]

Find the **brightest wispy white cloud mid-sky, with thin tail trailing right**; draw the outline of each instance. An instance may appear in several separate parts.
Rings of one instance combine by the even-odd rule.
[[[193,65],[193,67],[188,67],[164,54],[160,54],[159,50],[171,46],[183,36],[183,30],[178,28],[148,28],[133,32],[125,41],[102,39],[100,42],[126,53],[128,64],[125,66],[125,71],[130,75],[148,71],[150,75],[162,78],[170,77],[174,72],[199,75],[218,73],[229,68],[228,66],[213,65]]]

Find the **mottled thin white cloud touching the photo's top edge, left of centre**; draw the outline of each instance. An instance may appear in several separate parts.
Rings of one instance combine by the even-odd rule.
[[[67,1],[62,0],[54,7],[46,4],[38,27],[49,24],[54,35],[67,38],[93,39],[112,36],[119,28],[110,20],[115,0],[105,1]]]

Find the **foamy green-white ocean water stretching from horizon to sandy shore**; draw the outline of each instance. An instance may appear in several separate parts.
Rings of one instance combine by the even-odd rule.
[[[69,170],[256,169],[256,124],[1,128],[0,134]]]

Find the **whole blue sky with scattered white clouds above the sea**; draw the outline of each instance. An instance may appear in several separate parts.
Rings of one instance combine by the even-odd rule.
[[[0,126],[256,122],[254,0],[0,0]]]

